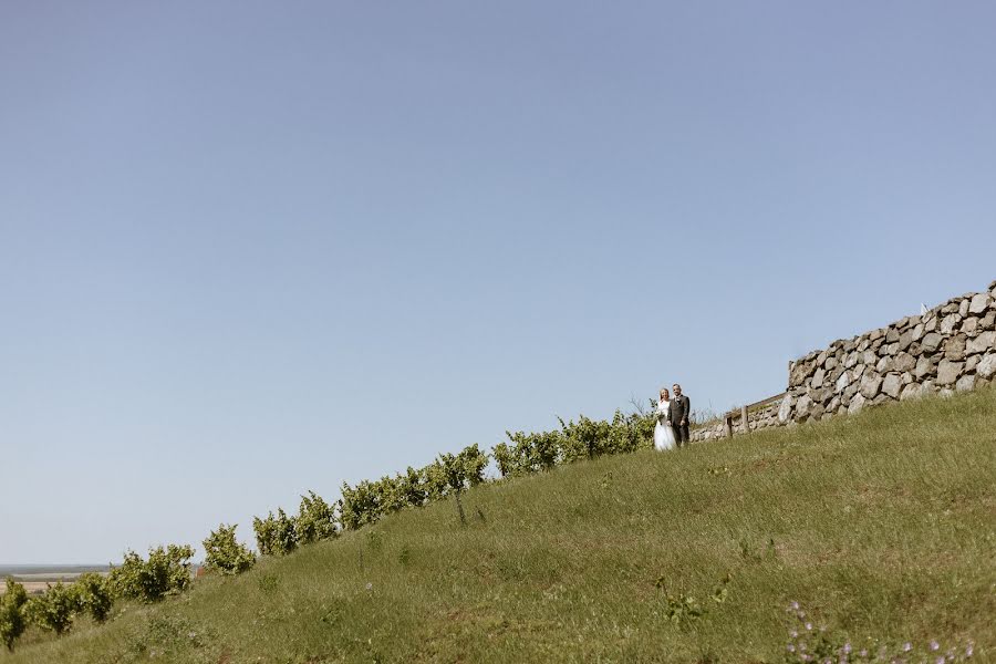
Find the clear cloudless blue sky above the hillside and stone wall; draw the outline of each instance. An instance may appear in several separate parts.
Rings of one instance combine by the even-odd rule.
[[[106,562],[996,279],[996,4],[6,2],[0,562]]]

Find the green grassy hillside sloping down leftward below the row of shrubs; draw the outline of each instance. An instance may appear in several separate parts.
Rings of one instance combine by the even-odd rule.
[[[994,461],[983,390],[578,464],[475,489],[464,528],[452,501],[405,511],[0,662],[777,661],[791,600],[859,642],[985,660]],[[663,620],[657,577],[704,596],[727,572],[694,629]]]

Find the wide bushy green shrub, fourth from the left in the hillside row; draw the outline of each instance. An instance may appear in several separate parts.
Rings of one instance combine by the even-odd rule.
[[[190,584],[193,557],[193,547],[177,544],[149,549],[148,560],[128,551],[121,567],[111,570],[111,585],[120,596],[158,601],[167,594],[183,592]]]

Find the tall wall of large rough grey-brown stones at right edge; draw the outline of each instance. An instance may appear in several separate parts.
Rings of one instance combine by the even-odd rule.
[[[973,390],[996,380],[996,281],[923,315],[831,343],[789,366],[781,424]]]

